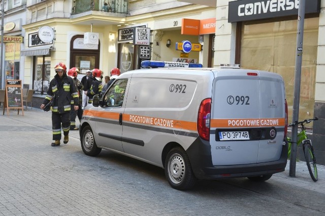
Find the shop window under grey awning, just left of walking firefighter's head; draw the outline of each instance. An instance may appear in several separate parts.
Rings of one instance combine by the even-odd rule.
[[[51,57],[34,57],[33,89],[35,94],[46,95],[50,84]]]

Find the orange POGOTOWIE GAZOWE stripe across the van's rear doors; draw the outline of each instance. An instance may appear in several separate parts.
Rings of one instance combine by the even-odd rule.
[[[211,127],[271,127],[284,126],[284,118],[211,119]]]

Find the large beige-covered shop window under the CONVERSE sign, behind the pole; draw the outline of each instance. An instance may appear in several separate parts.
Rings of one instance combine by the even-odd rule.
[[[314,112],[317,38],[319,18],[305,19],[299,118]],[[297,20],[242,25],[240,65],[280,74],[285,82],[289,118],[293,114]]]

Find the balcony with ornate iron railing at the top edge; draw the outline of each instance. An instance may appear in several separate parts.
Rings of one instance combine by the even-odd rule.
[[[127,13],[127,0],[75,0],[71,15],[87,11]]]

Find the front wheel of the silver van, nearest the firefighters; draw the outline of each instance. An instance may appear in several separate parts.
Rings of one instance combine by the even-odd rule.
[[[96,156],[102,151],[101,148],[97,147],[95,138],[89,125],[82,129],[81,148],[82,151],[88,156]]]

